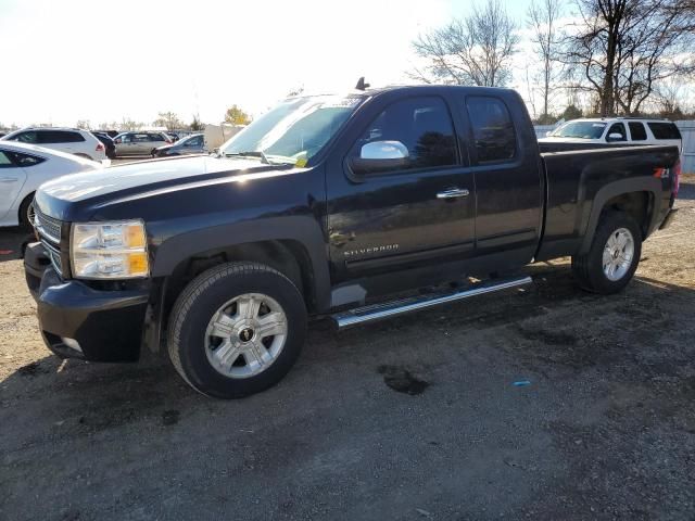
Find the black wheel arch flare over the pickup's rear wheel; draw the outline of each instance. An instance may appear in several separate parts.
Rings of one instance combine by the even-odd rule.
[[[631,215],[642,230],[642,239],[646,239],[656,226],[660,211],[660,179],[645,177],[622,179],[603,187],[594,196],[591,213],[584,231],[579,253],[585,254],[591,249],[602,214],[615,208]]]

